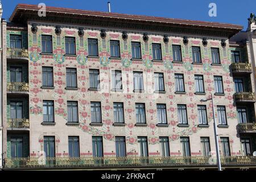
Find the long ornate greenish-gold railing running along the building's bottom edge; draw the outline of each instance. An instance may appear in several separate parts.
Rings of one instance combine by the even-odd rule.
[[[216,161],[216,159],[215,159]],[[222,157],[224,166],[255,166],[256,156]],[[120,167],[207,167],[216,162],[204,156],[176,157],[104,157],[104,158],[7,158],[5,168],[120,168]]]

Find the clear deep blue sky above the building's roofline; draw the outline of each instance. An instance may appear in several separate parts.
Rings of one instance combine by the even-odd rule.
[[[2,0],[3,18],[9,19],[18,3],[108,11],[108,0]],[[240,24],[247,28],[250,13],[256,14],[256,0],[110,0],[113,13],[163,16]],[[209,3],[216,3],[217,16],[208,15]]]

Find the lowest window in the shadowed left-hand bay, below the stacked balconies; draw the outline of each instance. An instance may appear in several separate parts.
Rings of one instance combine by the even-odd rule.
[[[23,137],[11,137],[11,158],[23,158]]]

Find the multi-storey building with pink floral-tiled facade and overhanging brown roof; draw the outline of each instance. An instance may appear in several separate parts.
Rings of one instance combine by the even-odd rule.
[[[222,164],[255,167],[249,46],[229,41],[241,26],[38,10],[3,23],[6,169],[216,168],[211,97]]]

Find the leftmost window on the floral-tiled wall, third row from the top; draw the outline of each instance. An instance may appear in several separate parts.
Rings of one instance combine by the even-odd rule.
[[[43,122],[54,122],[53,101],[43,101]]]

